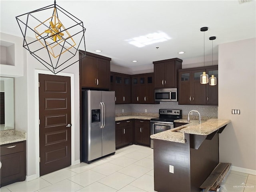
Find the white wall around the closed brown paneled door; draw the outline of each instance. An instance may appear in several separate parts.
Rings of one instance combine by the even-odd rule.
[[[36,109],[36,70],[49,71],[45,66],[38,62],[26,51],[20,42],[22,38],[1,33],[1,40],[15,44],[15,66],[1,64],[1,76],[14,76],[15,78],[15,128],[27,132],[27,178],[36,177],[36,168],[39,159],[36,157],[36,125],[38,119]],[[18,57],[18,59],[16,59]],[[63,56],[64,57],[64,56]],[[73,61],[78,60],[78,55]],[[12,70],[13,69],[13,70]],[[66,74],[74,75],[74,120],[72,120],[72,129],[74,129],[74,161],[80,162],[80,90],[79,90],[79,62],[62,71]],[[58,74],[57,74],[58,75]]]

